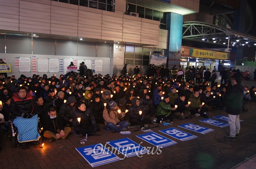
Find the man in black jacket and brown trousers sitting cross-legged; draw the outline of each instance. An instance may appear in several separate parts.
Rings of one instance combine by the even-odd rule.
[[[51,106],[43,117],[43,136],[50,138],[50,142],[57,139],[66,139],[71,131],[70,127],[64,127],[62,118],[56,113],[56,108]]]

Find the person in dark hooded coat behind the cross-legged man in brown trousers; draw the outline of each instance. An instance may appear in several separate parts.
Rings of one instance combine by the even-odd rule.
[[[75,103],[76,103],[75,97],[69,96],[67,98],[67,102],[61,106],[59,114],[63,119],[64,125],[69,125],[69,126],[72,125],[72,117],[73,117],[75,106],[76,106]]]

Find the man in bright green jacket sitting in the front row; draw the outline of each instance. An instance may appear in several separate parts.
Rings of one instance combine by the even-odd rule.
[[[158,121],[163,120],[166,123],[172,123],[176,115],[180,115],[180,113],[174,113],[176,108],[171,106],[169,100],[170,97],[166,94],[164,95],[164,99],[161,100],[159,105],[157,106],[155,116]]]

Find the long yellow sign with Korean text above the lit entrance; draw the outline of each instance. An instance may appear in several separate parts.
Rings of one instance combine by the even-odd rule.
[[[229,60],[229,53],[218,52],[214,50],[200,50],[200,49],[190,48],[189,56],[199,57],[199,58],[208,58],[208,59]]]

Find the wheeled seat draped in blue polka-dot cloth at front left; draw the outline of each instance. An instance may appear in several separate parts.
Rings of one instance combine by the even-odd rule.
[[[37,141],[37,144],[41,144],[42,138],[39,124],[37,114],[30,119],[16,117],[9,126],[9,140],[12,147],[16,148],[20,143],[32,141]]]

